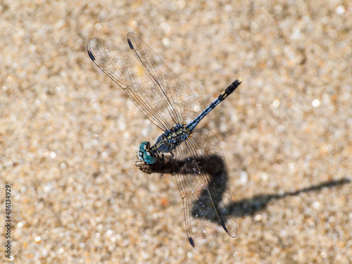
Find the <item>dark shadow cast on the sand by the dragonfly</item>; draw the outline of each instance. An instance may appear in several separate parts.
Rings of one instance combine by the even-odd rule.
[[[174,165],[175,165],[175,162],[177,162],[177,168],[179,168],[181,174],[187,174],[189,172],[189,168],[187,168],[189,164],[187,163],[187,158],[184,159],[184,161],[173,160],[172,162],[174,163]],[[139,168],[139,170],[142,170],[149,174],[170,173],[175,175],[175,172],[172,167],[172,162],[171,162],[171,156],[161,156],[160,158],[158,158],[158,162],[153,165],[143,165],[141,163],[137,165],[137,167]],[[213,206],[212,206],[212,203],[214,203],[216,207],[217,206],[216,203],[218,203],[218,201],[216,201],[216,199],[213,199],[212,201],[210,199],[210,196],[222,197],[223,192],[226,191],[226,187],[228,184],[227,169],[222,158],[216,155],[202,157],[201,164],[203,165],[203,168],[202,168],[203,171],[206,172],[206,175],[208,175],[209,192],[206,189],[201,192],[201,194],[199,195],[199,199],[197,199],[196,203],[194,203],[191,214],[193,216],[197,215],[198,214],[197,208],[199,208],[199,204],[203,204],[205,206],[208,206],[209,208],[205,217],[208,220],[212,222],[217,222],[218,225],[220,225],[218,216],[216,215],[215,210],[213,210]],[[215,184],[215,182],[219,181],[219,177],[221,177],[220,182],[224,183],[222,186],[218,186],[218,184]],[[327,182],[322,182],[320,184],[312,185],[310,187],[306,187],[303,189],[298,189],[296,191],[286,191],[279,194],[259,194],[249,199],[241,199],[239,201],[233,201],[232,203],[230,203],[229,206],[227,206],[226,208],[227,210],[225,211],[230,215],[236,215],[237,217],[254,215],[258,213],[258,211],[264,210],[266,206],[268,206],[268,203],[272,201],[284,199],[288,196],[298,196],[299,194],[307,193],[309,191],[320,191],[321,189],[324,189],[324,188],[338,187],[343,184],[349,184],[349,183],[351,183],[351,180],[349,180],[348,178],[341,178],[339,180],[330,180]],[[216,186],[211,188],[213,184],[215,184]],[[213,194],[211,190],[216,191],[217,194]],[[210,196],[209,196],[209,193],[210,193]]]

